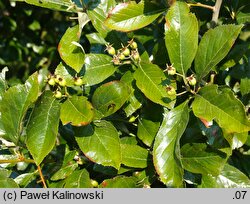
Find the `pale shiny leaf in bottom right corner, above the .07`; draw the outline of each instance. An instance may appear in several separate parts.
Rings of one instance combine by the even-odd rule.
[[[226,164],[220,175],[202,175],[200,188],[249,188],[250,179],[237,168]]]

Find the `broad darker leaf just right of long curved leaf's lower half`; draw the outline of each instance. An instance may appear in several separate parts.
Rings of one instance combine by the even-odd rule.
[[[183,168],[200,174],[219,175],[226,155],[209,149],[204,143],[188,143],[181,148]]]

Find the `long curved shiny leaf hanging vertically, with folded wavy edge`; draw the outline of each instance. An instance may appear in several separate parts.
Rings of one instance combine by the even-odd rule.
[[[180,138],[189,121],[188,101],[164,114],[155,137],[153,162],[160,180],[170,187],[183,186]]]

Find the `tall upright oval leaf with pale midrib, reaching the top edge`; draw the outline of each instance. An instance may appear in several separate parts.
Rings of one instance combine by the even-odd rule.
[[[185,2],[176,2],[168,10],[165,43],[171,63],[185,75],[198,48],[198,21]]]

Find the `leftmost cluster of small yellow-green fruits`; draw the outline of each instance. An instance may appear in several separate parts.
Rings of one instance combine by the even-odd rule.
[[[74,77],[74,84],[76,86],[82,86],[84,84],[84,81],[81,77]],[[67,87],[67,81],[60,75],[49,75],[47,77],[47,83],[52,86],[55,87],[55,91],[54,91],[54,96],[55,98],[62,98],[62,97],[67,97],[68,93],[66,90]],[[65,94],[62,94],[62,88],[64,88],[64,92]]]

